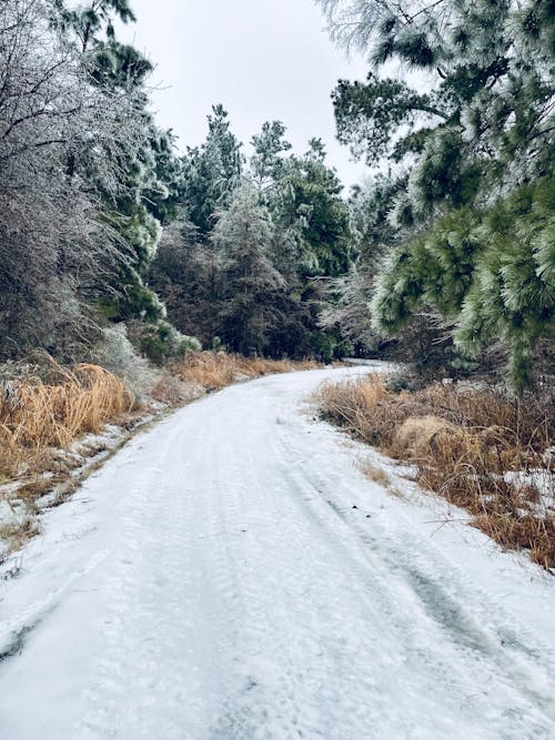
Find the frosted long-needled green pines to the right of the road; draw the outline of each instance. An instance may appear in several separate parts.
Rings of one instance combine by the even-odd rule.
[[[361,256],[329,321],[450,374],[553,377],[553,2],[320,4],[370,59],[333,93],[339,138],[382,172],[354,193]]]

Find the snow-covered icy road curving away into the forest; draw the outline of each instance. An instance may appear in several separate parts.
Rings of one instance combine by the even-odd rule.
[[[194,403],[44,517],[2,740],[555,738],[555,579],[360,472],[302,399],[361,372]]]

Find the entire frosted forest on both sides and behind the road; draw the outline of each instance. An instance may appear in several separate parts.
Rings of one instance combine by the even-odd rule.
[[[128,0],[0,12],[0,362],[131,343],[274,358],[387,356],[553,372],[554,13],[548,1],[321,0],[364,81],[332,93],[369,178],[345,193],[319,139],[281,121],[251,154],[215,103],[179,151],[152,62],[120,42]]]

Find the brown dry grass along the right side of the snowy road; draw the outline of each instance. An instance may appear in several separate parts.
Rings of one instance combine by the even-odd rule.
[[[553,398],[519,402],[470,384],[396,394],[373,374],[324,384],[316,402],[326,420],[414,466],[423,488],[500,545],[555,568]]]

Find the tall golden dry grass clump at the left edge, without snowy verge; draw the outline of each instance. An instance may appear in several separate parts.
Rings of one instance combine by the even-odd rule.
[[[68,371],[52,363],[47,381],[28,376],[6,382],[0,387],[0,474],[12,477],[49,448],[100,432],[132,405],[123,383],[98,365]]]

